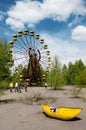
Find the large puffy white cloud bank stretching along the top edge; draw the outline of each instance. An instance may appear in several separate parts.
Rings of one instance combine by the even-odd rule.
[[[44,0],[43,3],[36,0],[22,0],[17,1],[16,5],[13,5],[7,14],[7,24],[12,26],[15,21],[19,21],[24,26],[25,24],[36,24],[45,18],[66,21],[71,14],[85,15],[86,8],[83,0]],[[8,19],[12,19],[13,24],[12,20]]]

